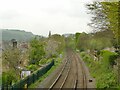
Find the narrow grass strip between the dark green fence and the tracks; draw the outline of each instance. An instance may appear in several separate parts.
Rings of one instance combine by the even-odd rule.
[[[37,88],[40,82],[42,82],[47,76],[49,76],[61,64],[64,58],[64,53],[62,55],[63,55],[62,58],[58,57],[55,59],[54,66],[52,66],[52,68],[47,73],[45,73],[42,77],[40,77],[39,80],[37,80],[35,83],[31,84],[28,88]]]

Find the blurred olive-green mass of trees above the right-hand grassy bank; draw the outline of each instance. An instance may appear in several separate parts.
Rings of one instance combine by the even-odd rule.
[[[81,33],[77,38],[76,47],[80,50],[101,50],[112,46],[113,34],[110,31],[101,31],[91,34]]]

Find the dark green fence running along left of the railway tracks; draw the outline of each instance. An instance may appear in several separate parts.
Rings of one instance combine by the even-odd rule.
[[[19,82],[15,83],[14,85],[7,87],[8,90],[18,90],[24,87],[30,86],[36,80],[38,80],[41,76],[43,76],[52,66],[54,65],[54,60],[46,65],[45,67],[41,68],[40,70],[35,71],[33,74],[27,76],[26,78],[20,80]],[[5,88],[3,88],[4,90]]]

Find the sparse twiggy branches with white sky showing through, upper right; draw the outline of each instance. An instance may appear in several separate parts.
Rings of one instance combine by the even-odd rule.
[[[89,10],[89,14],[93,15],[91,23],[88,25],[93,27],[94,31],[106,30],[109,22],[106,19],[107,16],[103,13],[101,2],[93,2],[92,4],[87,4],[86,6]]]

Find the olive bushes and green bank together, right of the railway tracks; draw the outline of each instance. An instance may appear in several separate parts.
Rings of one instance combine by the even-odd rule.
[[[75,38],[67,37],[67,46],[76,46],[76,50],[80,51],[81,58],[89,67],[92,77],[96,79],[97,88],[118,87],[118,54],[104,50],[113,47],[113,37],[109,30],[89,34],[76,33]]]

